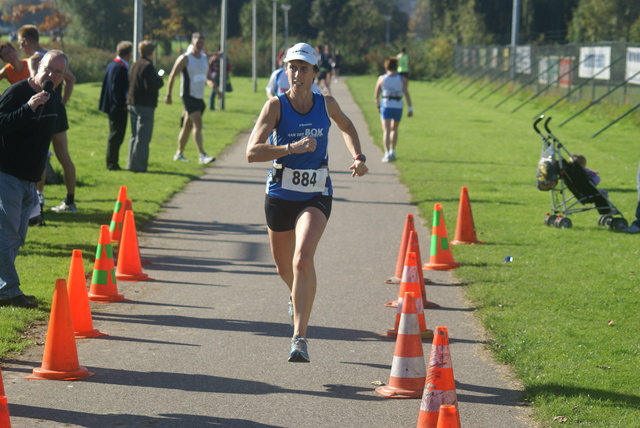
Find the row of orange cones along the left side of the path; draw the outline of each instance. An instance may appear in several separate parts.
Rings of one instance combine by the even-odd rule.
[[[93,327],[89,302],[124,301],[124,295],[118,293],[117,280],[150,279],[142,272],[134,213],[131,202],[125,199],[126,187],[122,186],[112,217],[112,230],[107,225],[100,227],[89,292],[80,250],[73,250],[67,280],[56,280],[42,366],[34,368],[28,379],[80,380],[92,376],[93,373],[79,364],[75,339],[107,334]],[[119,243],[117,268],[112,248],[115,238]],[[0,427],[4,427],[1,419]]]

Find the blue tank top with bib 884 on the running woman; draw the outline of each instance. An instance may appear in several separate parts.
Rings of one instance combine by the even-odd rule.
[[[274,160],[267,177],[269,196],[289,201],[306,201],[318,195],[332,195],[329,177],[329,127],[331,120],[322,94],[313,93],[313,107],[306,114],[294,110],[286,94],[278,95],[280,121],[270,144],[283,146],[306,136],[316,139],[315,151],[292,153]]]

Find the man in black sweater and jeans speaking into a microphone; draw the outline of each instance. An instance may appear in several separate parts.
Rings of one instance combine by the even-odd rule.
[[[15,260],[27,236],[29,214],[37,200],[35,184],[45,169],[51,136],[62,129],[60,96],[43,88],[47,81],[54,88],[60,85],[67,67],[63,52],[49,51],[34,77],[15,83],[0,97],[1,306],[38,306],[33,296],[20,290]]]

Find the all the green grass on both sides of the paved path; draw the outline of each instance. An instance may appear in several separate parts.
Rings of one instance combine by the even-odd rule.
[[[205,114],[205,148],[212,155],[251,128],[265,100],[265,81],[255,93],[250,79],[235,77],[233,83],[227,109]],[[348,84],[380,144],[375,77],[349,78]],[[535,187],[541,142],[531,125],[548,100],[511,114],[521,99],[496,109],[504,94],[481,103],[483,94],[468,98],[471,90],[457,95],[436,84],[411,82],[415,116],[402,121],[396,164],[420,210],[419,221],[430,227],[434,203],[441,203],[452,238],[460,188],[468,186],[478,238],[486,243],[454,247],[462,263],[456,275],[490,333],[489,346],[522,380],[543,426],[560,423],[557,416],[566,417],[563,426],[640,426],[640,237],[598,226],[595,212],[572,216],[572,229],[545,226],[550,197]],[[97,110],[99,91],[99,84],[78,85],[69,104],[80,213],[47,211],[48,226],[29,230],[17,267],[24,291],[38,297],[41,309],[0,308],[0,356],[32,343],[29,326],[46,319],[55,279],[66,278],[73,249],[83,251],[86,271],[93,268],[99,225],[109,223],[121,185],[128,188],[140,228],[202,172],[195,162],[172,160],[179,104],[156,110],[149,173],[107,171],[108,126]],[[599,112],[554,127],[573,113],[563,107],[550,112],[551,127],[570,151],[588,158],[588,166],[600,172],[600,187],[632,220],[638,128],[626,120],[591,139],[607,123]],[[125,141],[122,165],[126,146]],[[185,155],[196,160],[193,142]],[[368,155],[370,163],[379,162]],[[50,208],[65,188],[47,186],[45,195]],[[504,263],[507,256],[513,262]]]

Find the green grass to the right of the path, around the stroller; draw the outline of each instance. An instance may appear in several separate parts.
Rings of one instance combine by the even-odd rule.
[[[375,78],[347,82],[381,146]],[[504,94],[480,102],[484,94],[469,99],[472,89],[457,94],[426,82],[411,82],[410,92],[414,117],[402,119],[397,148],[401,179],[427,227],[442,203],[450,239],[460,189],[469,187],[486,244],[454,247],[456,275],[492,336],[488,346],[524,383],[535,417],[543,426],[640,426],[640,237],[598,226],[595,211],[572,216],[572,229],[544,225],[551,203],[535,187],[542,144],[532,118],[549,100],[512,114],[524,94],[494,108]],[[548,112],[552,131],[587,157],[600,187],[633,220],[638,128],[623,121],[592,139],[608,123],[599,110],[558,128],[574,110]],[[513,262],[504,263],[507,256]]]

